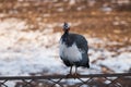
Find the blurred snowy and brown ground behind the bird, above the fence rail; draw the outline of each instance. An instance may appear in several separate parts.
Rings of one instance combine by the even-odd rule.
[[[67,74],[64,22],[88,40],[80,73],[131,72],[131,0],[0,0],[0,75]]]

